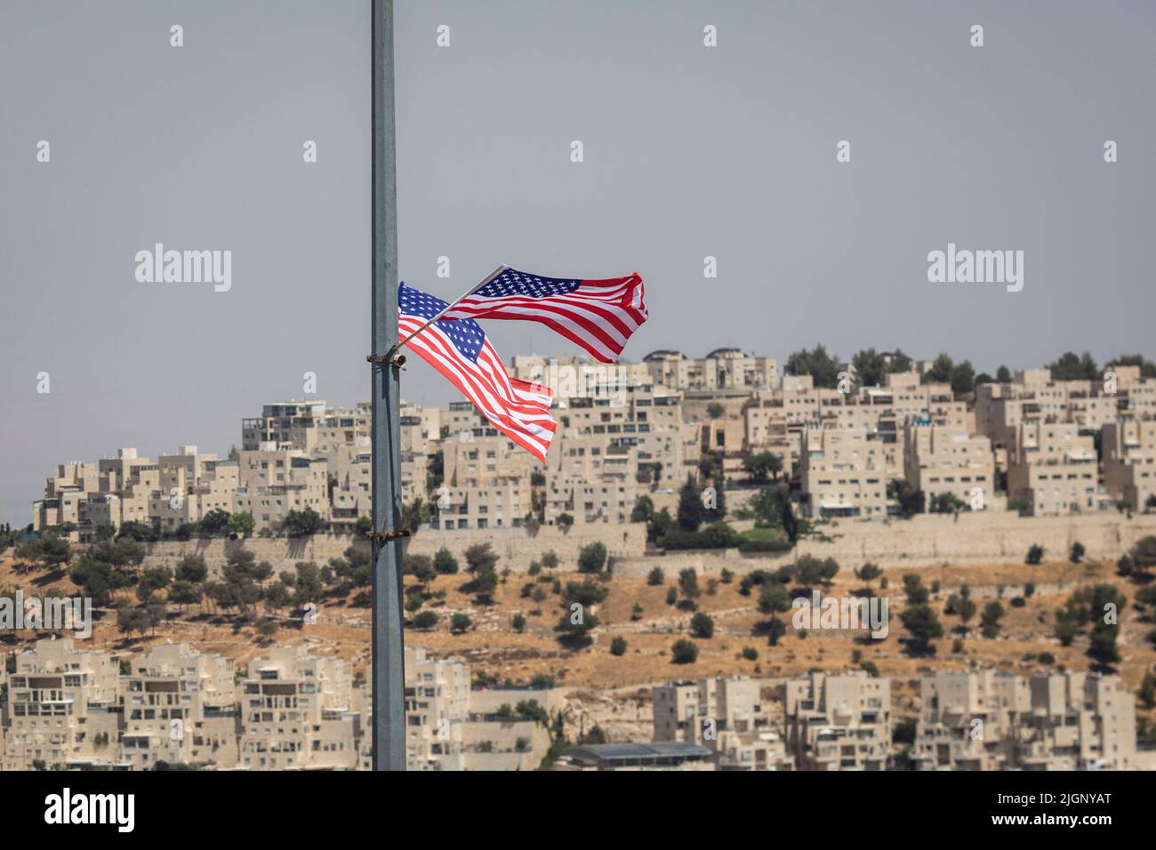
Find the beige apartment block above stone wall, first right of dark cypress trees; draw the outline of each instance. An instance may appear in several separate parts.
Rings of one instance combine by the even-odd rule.
[[[802,444],[799,478],[810,516],[887,516],[894,470],[877,435],[865,428],[807,428]]]

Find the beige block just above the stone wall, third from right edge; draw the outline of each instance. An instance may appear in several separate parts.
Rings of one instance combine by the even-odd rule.
[[[977,489],[986,508],[995,494],[995,460],[987,437],[962,428],[909,423],[904,452],[907,483],[924,494],[925,509],[936,496],[950,494],[975,510]]]

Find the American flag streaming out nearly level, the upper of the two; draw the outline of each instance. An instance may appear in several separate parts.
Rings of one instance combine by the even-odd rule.
[[[643,279],[542,278],[506,268],[449,310],[449,319],[541,321],[603,363],[614,363],[647,319]]]

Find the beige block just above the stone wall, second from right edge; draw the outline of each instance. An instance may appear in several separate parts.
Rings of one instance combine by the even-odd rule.
[[[1079,426],[1021,422],[1008,449],[1008,498],[1032,516],[1094,510],[1097,466],[1095,442]]]

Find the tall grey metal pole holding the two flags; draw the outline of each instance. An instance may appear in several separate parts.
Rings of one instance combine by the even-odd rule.
[[[401,637],[401,446],[398,368],[378,354],[398,338],[398,176],[393,124],[393,0],[372,0],[373,207],[373,769],[406,769]]]

